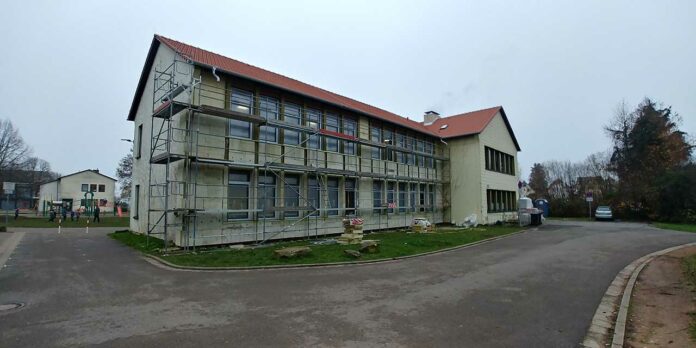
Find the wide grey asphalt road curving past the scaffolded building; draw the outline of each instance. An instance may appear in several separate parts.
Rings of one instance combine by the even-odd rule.
[[[696,234],[553,222],[457,251],[331,268],[156,267],[107,230],[31,230],[0,270],[0,347],[577,347],[634,259]]]

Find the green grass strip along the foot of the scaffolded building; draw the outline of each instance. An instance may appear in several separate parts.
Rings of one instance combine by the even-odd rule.
[[[365,234],[365,239],[379,240],[380,251],[374,254],[363,254],[358,260],[389,259],[441,250],[510,234],[521,229],[521,227],[516,226],[486,226],[471,230],[441,228],[437,233],[428,234],[405,232],[369,233]],[[199,250],[195,254],[185,253],[161,256],[159,248],[162,247],[163,243],[159,239],[150,237],[149,246],[146,247],[146,237],[140,234],[116,232],[111,233],[109,236],[141,252],[160,256],[173,264],[200,267],[247,267],[353,261],[355,259],[345,255],[343,250],[359,249],[359,245],[312,245],[311,241],[303,240],[279,242],[242,250],[221,247]],[[273,250],[275,249],[305,245],[312,248],[311,254],[293,259],[278,259],[273,256]]]

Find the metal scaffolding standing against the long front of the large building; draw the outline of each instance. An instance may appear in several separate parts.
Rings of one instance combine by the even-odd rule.
[[[189,61],[155,68],[153,82],[148,236],[169,241],[178,233],[178,246],[195,249],[319,238],[340,233],[341,218],[350,216],[370,216],[366,230],[408,226],[416,216],[446,221],[449,156],[436,154],[437,143],[426,152],[405,135],[401,141],[410,148],[398,147],[393,137],[366,139],[359,122],[352,135],[333,131],[322,127],[326,113],[309,122],[306,107],[299,122],[287,122],[285,101],[268,106],[258,93],[246,109],[233,107],[233,88]],[[248,124],[248,138],[231,135],[232,122]],[[296,143],[281,142],[279,130],[296,134]],[[324,141],[353,153],[329,151]],[[370,157],[374,149],[379,159]],[[396,151],[430,166],[381,158],[399,157]],[[235,183],[230,175],[239,170],[247,177]],[[367,181],[373,188],[361,189]]]

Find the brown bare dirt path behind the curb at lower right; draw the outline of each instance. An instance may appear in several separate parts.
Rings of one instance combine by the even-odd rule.
[[[656,257],[640,273],[631,298],[625,347],[695,347],[689,313],[696,312],[694,292],[686,284],[682,258],[696,247]]]

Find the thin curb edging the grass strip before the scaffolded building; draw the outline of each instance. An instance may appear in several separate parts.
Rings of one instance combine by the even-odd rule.
[[[477,245],[485,244],[485,243],[490,243],[494,242],[503,238],[511,237],[514,235],[518,235],[521,233],[526,233],[529,231],[537,231],[538,228],[532,228],[532,229],[525,229],[517,232],[512,232],[506,235],[498,236],[498,237],[493,237],[493,238],[488,238],[488,239],[483,239],[480,241],[476,241],[473,243],[469,244],[463,244],[463,245],[458,245],[446,249],[440,249],[440,250],[434,250],[434,251],[427,251],[424,253],[420,254],[413,254],[413,255],[406,255],[406,256],[397,256],[397,257],[391,257],[391,258],[384,258],[384,259],[377,259],[377,260],[365,260],[365,261],[341,261],[341,262],[329,262],[329,263],[306,263],[306,264],[298,264],[298,265],[271,265],[271,266],[249,266],[249,267],[200,267],[200,266],[181,266],[177,264],[173,264],[169,261],[166,261],[158,256],[155,255],[150,255],[150,254],[142,254],[142,256],[145,258],[146,261],[154,264],[155,266],[158,266],[163,269],[167,269],[170,271],[189,271],[189,272],[224,272],[224,271],[255,271],[255,270],[283,270],[283,269],[296,269],[296,268],[329,268],[329,267],[343,267],[343,266],[359,266],[359,265],[368,265],[368,264],[375,264],[375,263],[387,263],[387,262],[394,262],[394,261],[399,261],[399,260],[404,260],[404,259],[411,259],[415,257],[422,257],[422,256],[428,256],[428,255],[433,255],[433,254],[440,254],[440,253],[446,253],[454,250],[459,250],[459,249],[465,249],[465,248],[470,248],[474,247]]]

